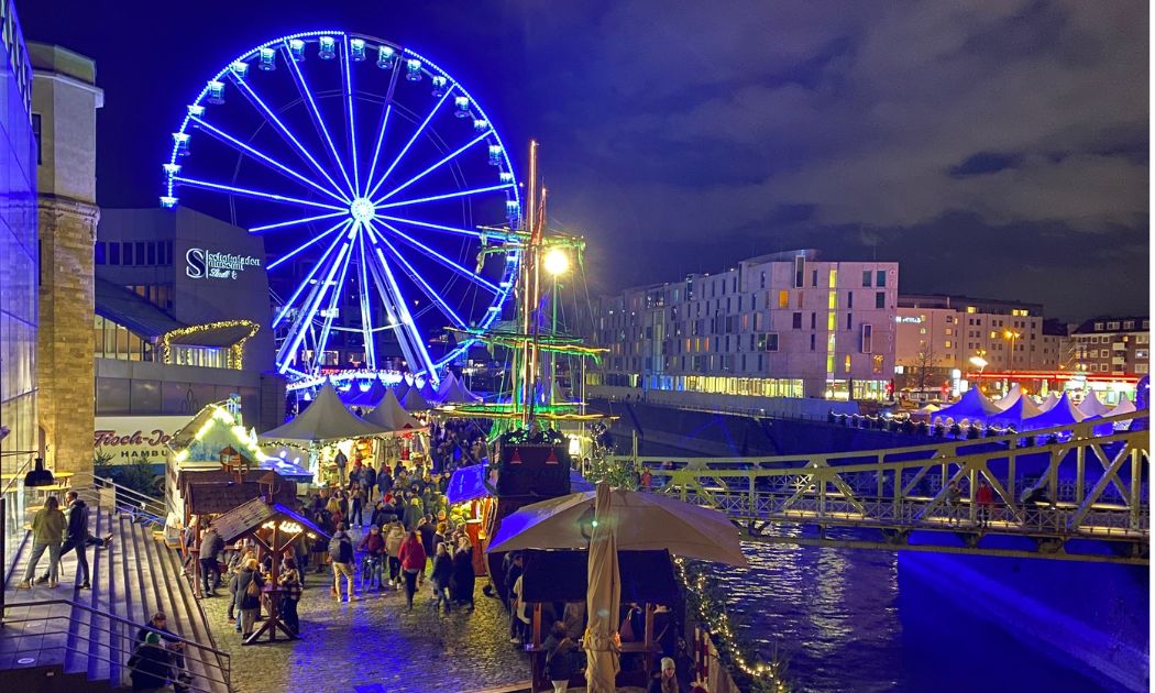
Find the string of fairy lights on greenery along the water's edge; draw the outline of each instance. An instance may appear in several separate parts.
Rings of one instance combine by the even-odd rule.
[[[675,558],[678,578],[686,588],[686,602],[698,620],[706,625],[718,656],[730,664],[731,671],[737,669],[748,680],[743,690],[761,691],[763,693],[790,693],[791,685],[785,679],[785,664],[775,657],[770,663],[755,660],[748,648],[742,643],[730,624],[725,602],[715,597],[716,586],[708,578],[702,566],[690,566],[684,558]]]

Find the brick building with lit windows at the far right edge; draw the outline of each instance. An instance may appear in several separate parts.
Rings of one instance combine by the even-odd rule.
[[[1074,329],[1072,338],[1079,371],[1140,377],[1150,372],[1148,318],[1091,318]]]

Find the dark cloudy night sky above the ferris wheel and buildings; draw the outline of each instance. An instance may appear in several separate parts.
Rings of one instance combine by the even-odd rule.
[[[595,290],[772,251],[897,260],[903,292],[1148,312],[1141,1],[16,0],[97,61],[98,195],[156,204],[185,104],[251,46],[348,29],[484,104]]]

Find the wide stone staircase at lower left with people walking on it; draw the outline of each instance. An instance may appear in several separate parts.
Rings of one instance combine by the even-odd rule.
[[[155,538],[155,513],[141,512],[139,502],[124,507],[107,489],[80,491],[89,504],[92,536],[112,535],[112,545],[88,547],[91,590],[76,589],[82,575],[75,552],[60,561],[58,588],[17,590],[32,539],[31,532],[9,531],[16,541],[5,557],[0,678],[28,680],[31,691],[121,690],[131,685],[128,658],[136,632],[163,611],[167,628],[184,643],[185,665],[193,677],[189,690],[228,693],[229,656],[215,648],[204,612],[181,575],[179,553]],[[38,574],[47,562],[45,552]]]

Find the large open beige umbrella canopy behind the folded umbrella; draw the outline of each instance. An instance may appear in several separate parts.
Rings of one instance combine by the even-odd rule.
[[[586,549],[582,520],[593,512],[594,501],[595,492],[586,491],[528,505],[501,521],[489,551]],[[668,549],[686,558],[748,565],[738,528],[717,511],[624,489],[610,492],[610,508],[619,551]]]

